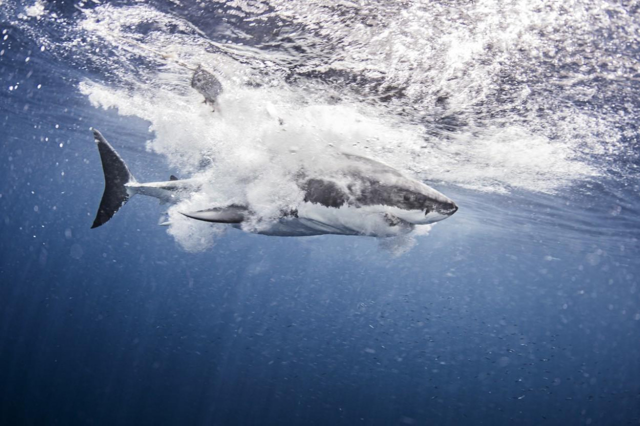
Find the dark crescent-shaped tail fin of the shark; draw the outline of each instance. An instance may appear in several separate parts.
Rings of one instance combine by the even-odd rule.
[[[91,226],[93,229],[104,225],[129,200],[132,193],[127,191],[125,184],[136,182],[136,179],[107,139],[104,139],[98,130],[92,130],[100,152],[100,160],[102,160],[102,171],[104,171],[104,193]]]

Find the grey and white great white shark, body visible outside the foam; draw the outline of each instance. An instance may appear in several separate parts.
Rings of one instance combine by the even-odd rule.
[[[104,225],[136,194],[178,203],[201,190],[202,182],[193,178],[172,176],[165,182],[138,182],[113,146],[98,130],[92,130],[104,171],[104,194],[92,228]],[[236,203],[181,213],[263,235],[395,237],[412,232],[416,225],[446,219],[458,210],[444,194],[386,164],[360,155],[340,155],[339,169],[333,173],[303,168],[293,173],[291,179],[302,196],[297,205],[282,210],[278,217],[259,217],[250,205]],[[243,226],[252,221],[258,221],[259,226]]]

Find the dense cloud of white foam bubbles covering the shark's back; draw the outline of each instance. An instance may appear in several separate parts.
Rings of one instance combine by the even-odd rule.
[[[300,204],[302,194],[292,176],[301,168],[330,175],[340,169],[340,161],[346,161],[335,154],[353,148],[355,141],[383,139],[398,146],[409,137],[418,138],[353,106],[308,105],[282,90],[226,83],[215,113],[195,90],[132,93],[92,82],[80,84],[93,106],[115,107],[120,114],[148,120],[156,136],[148,149],[163,154],[181,174],[190,173],[203,182],[202,191],[168,210],[169,232],[189,250],[211,244],[220,228],[202,232],[202,224],[180,212],[241,203],[257,213],[257,223],[248,226],[259,227],[259,220],[278,217],[282,210]],[[274,99],[278,104],[271,102]],[[205,158],[213,164],[202,168]]]

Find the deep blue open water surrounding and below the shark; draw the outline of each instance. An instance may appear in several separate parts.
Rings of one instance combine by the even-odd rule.
[[[589,133],[604,154],[573,148],[600,173],[552,191],[436,179],[460,211],[401,256],[369,237],[240,230],[192,253],[157,226],[163,207],[148,198],[90,229],[103,185],[90,126],[109,132],[145,180],[180,170],[145,150],[148,120],[98,109],[78,89],[87,79],[117,85],[121,75],[82,65],[63,42],[40,50],[38,36],[69,38],[65,26],[82,13],[44,4],[68,19],[65,31],[18,17],[19,4],[0,6],[0,424],[640,422],[637,127],[616,143]],[[155,7],[212,40],[223,30],[211,22],[232,8],[204,8],[207,19],[193,4]],[[245,24],[236,31],[250,31]],[[260,43],[265,34],[255,30]],[[637,54],[630,40],[613,35],[608,45]],[[152,66],[128,64],[132,73]],[[278,84],[312,84],[292,75]],[[620,123],[633,122],[637,76],[598,78],[590,87],[607,90],[576,104],[602,117],[618,106],[627,111]],[[370,100],[362,81],[348,84]],[[619,102],[606,98],[616,84]],[[509,116],[497,103],[482,108]]]

